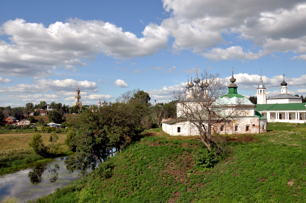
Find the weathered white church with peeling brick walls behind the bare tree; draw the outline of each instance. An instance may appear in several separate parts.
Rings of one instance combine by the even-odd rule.
[[[189,120],[184,112],[188,108],[194,117],[202,117],[202,122],[207,126],[207,120],[205,121],[205,111],[203,108],[199,108],[200,105],[205,103],[205,99],[210,100],[207,95],[210,92],[209,84],[206,82],[199,85],[200,79],[197,76],[193,80],[195,84],[191,82],[187,83],[185,89],[184,100],[178,102],[177,105],[177,118],[176,119],[164,119],[162,121],[162,130],[170,135],[199,135],[199,130],[195,126],[198,122],[196,119]],[[214,103],[210,106],[210,110],[215,112],[217,115],[215,122],[211,127],[212,133],[221,134],[244,134],[244,133],[261,133],[267,131],[267,118],[262,116],[256,111],[256,105],[253,104],[248,98],[237,93],[237,85],[234,83],[236,79],[233,76],[230,79],[231,84],[228,86],[228,94],[217,98]],[[211,87],[212,88],[212,87]],[[212,100],[210,100],[212,101]],[[188,111],[188,110],[187,110]],[[220,114],[225,116],[220,116]],[[207,118],[214,119],[214,118]],[[192,122],[191,122],[192,121]],[[206,122],[206,123],[205,123]]]

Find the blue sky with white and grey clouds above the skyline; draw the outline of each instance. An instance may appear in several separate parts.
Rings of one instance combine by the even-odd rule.
[[[171,101],[187,75],[207,69],[238,93],[306,96],[306,2],[2,1],[0,106],[114,101],[140,88]]]

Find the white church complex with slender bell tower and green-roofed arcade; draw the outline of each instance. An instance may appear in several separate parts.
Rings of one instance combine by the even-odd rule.
[[[304,123],[306,103],[302,103],[302,98],[288,94],[288,84],[285,82],[285,75],[283,76],[281,94],[267,98],[260,74],[256,110],[267,117],[268,122]]]

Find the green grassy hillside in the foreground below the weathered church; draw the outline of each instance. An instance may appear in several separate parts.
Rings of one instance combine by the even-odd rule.
[[[279,126],[282,130],[292,127]],[[111,178],[89,175],[37,201],[306,201],[304,132],[220,136],[231,152],[210,170],[195,167],[193,154],[203,147],[196,137],[149,134],[155,136],[142,138],[113,158],[116,166]]]

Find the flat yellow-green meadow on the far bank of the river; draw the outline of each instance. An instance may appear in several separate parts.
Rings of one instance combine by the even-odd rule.
[[[33,133],[7,133],[0,134],[0,174],[11,173],[23,168],[32,167],[40,162],[48,162],[50,159],[36,155],[29,146]],[[48,133],[41,133],[44,143],[50,142]],[[64,141],[65,133],[58,134],[58,142],[51,147],[50,153],[54,156],[68,155],[68,147]]]

